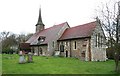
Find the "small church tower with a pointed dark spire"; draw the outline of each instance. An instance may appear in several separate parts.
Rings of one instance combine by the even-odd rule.
[[[39,9],[39,17],[38,17],[38,22],[35,25],[36,26],[36,32],[44,30],[45,25],[42,22],[42,17],[41,17],[41,8]]]

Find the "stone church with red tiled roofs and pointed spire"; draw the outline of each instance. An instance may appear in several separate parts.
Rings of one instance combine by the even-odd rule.
[[[106,61],[105,35],[100,21],[75,27],[67,22],[45,28],[41,9],[36,32],[26,41],[34,55],[75,57],[85,61]]]

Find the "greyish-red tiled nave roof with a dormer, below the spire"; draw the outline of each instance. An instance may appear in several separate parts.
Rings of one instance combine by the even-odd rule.
[[[45,41],[41,44],[47,44],[48,42],[54,40],[55,36],[58,34],[60,29],[66,24],[67,22],[54,25],[50,28],[44,29],[43,31],[35,33],[26,43],[30,43],[31,45],[36,45],[38,43],[38,38],[40,36],[45,37]]]

